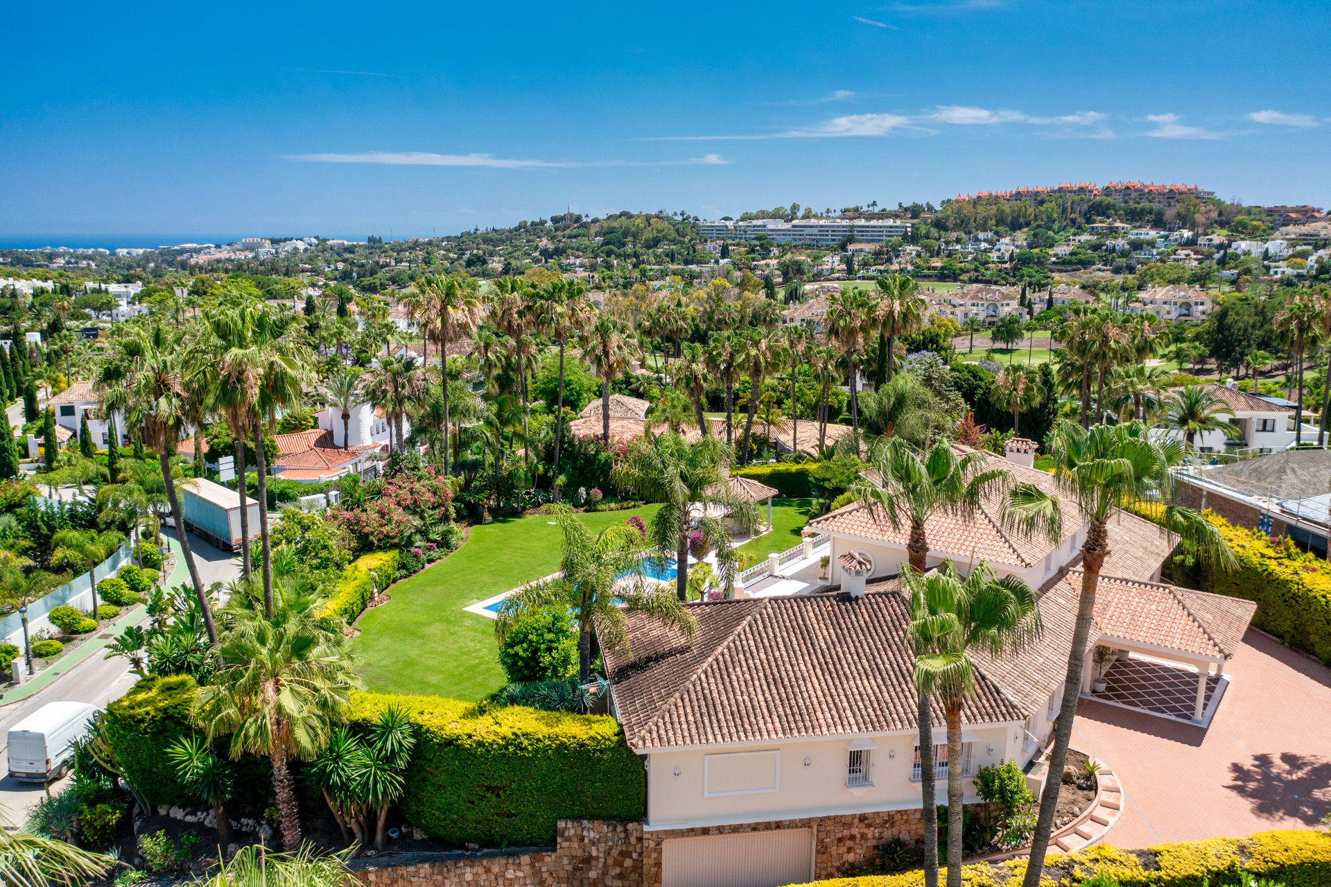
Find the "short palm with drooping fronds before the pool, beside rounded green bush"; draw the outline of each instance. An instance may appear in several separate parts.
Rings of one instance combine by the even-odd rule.
[[[626,609],[693,639],[697,625],[683,601],[647,578],[644,566],[650,551],[636,530],[611,523],[592,535],[567,505],[547,506],[547,513],[559,523],[563,537],[562,574],[528,585],[504,599],[495,619],[500,643],[524,614],[550,609],[568,611],[578,623],[578,679],[587,683],[591,679],[592,630],[603,649],[628,647]]]

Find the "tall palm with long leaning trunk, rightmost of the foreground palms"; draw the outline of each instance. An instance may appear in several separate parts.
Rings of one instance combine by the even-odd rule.
[[[1063,538],[1065,505],[1074,505],[1081,519],[1090,525],[1081,547],[1082,579],[1077,623],[1067,651],[1062,707],[1049,755],[1049,772],[1062,772],[1077,717],[1077,697],[1095,613],[1099,570],[1109,554],[1109,521],[1114,514],[1127,505],[1155,502],[1162,506],[1163,531],[1178,535],[1187,551],[1223,571],[1234,567],[1235,558],[1214,523],[1198,511],[1175,503],[1174,475],[1170,469],[1183,455],[1183,446],[1178,441],[1153,441],[1141,422],[1095,425],[1086,430],[1059,420],[1049,434],[1047,446],[1057,491],[1018,483],[1012,491],[1009,518],[1017,530],[1028,534],[1042,531],[1053,541]],[[1058,780],[1050,779],[1040,799],[1040,819],[1036,822],[1024,887],[1040,884],[1057,806]]]

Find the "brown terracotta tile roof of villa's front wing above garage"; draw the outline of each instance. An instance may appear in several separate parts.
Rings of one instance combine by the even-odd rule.
[[[631,654],[606,665],[635,750],[803,737],[844,737],[916,725],[914,655],[900,595],[872,591],[689,605],[692,645],[627,613]],[[1024,721],[982,670],[962,719]],[[941,706],[936,713],[942,726]]]

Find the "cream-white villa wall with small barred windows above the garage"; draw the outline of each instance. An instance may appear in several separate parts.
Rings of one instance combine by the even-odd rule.
[[[1002,763],[1009,756],[1021,758],[1018,723],[966,727],[976,737],[974,768]],[[799,819],[881,810],[920,807],[920,783],[910,779],[914,763],[914,730],[892,734],[865,734],[839,739],[795,740],[741,747],[688,748],[658,751],[644,755],[647,763],[647,828],[721,826],[773,819]],[[852,740],[869,739],[872,750],[872,786],[847,787],[847,767]],[[934,742],[945,743],[946,733],[934,730]],[[989,751],[989,746],[993,751]],[[753,771],[753,758],[723,758],[736,752],[776,751],[775,790],[741,794],[708,794],[711,784],[721,782],[727,767]],[[808,766],[805,766],[808,759]],[[675,770],[679,775],[675,775]],[[743,779],[731,786],[744,784]],[[978,800],[974,779],[965,784],[966,803]],[[946,803],[945,782],[938,786],[938,803]]]

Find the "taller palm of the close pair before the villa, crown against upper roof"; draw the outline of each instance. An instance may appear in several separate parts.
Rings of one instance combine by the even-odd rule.
[[[1010,485],[1012,471],[984,470],[984,453],[973,451],[958,457],[946,442],[934,446],[921,458],[909,444],[898,437],[874,446],[869,463],[878,474],[881,486],[858,481],[851,493],[878,519],[886,519],[893,530],[910,527],[906,542],[909,567],[916,574],[928,569],[929,538],[925,525],[934,514],[956,514],[968,519],[986,494],[998,494]],[[920,779],[924,798],[934,798],[933,770],[933,713],[929,694],[917,698],[916,726],[920,730]],[[960,810],[960,807],[958,807]],[[933,803],[924,804],[925,878],[938,880],[938,811]],[[960,827],[958,827],[960,834]],[[930,874],[932,872],[932,874]]]

